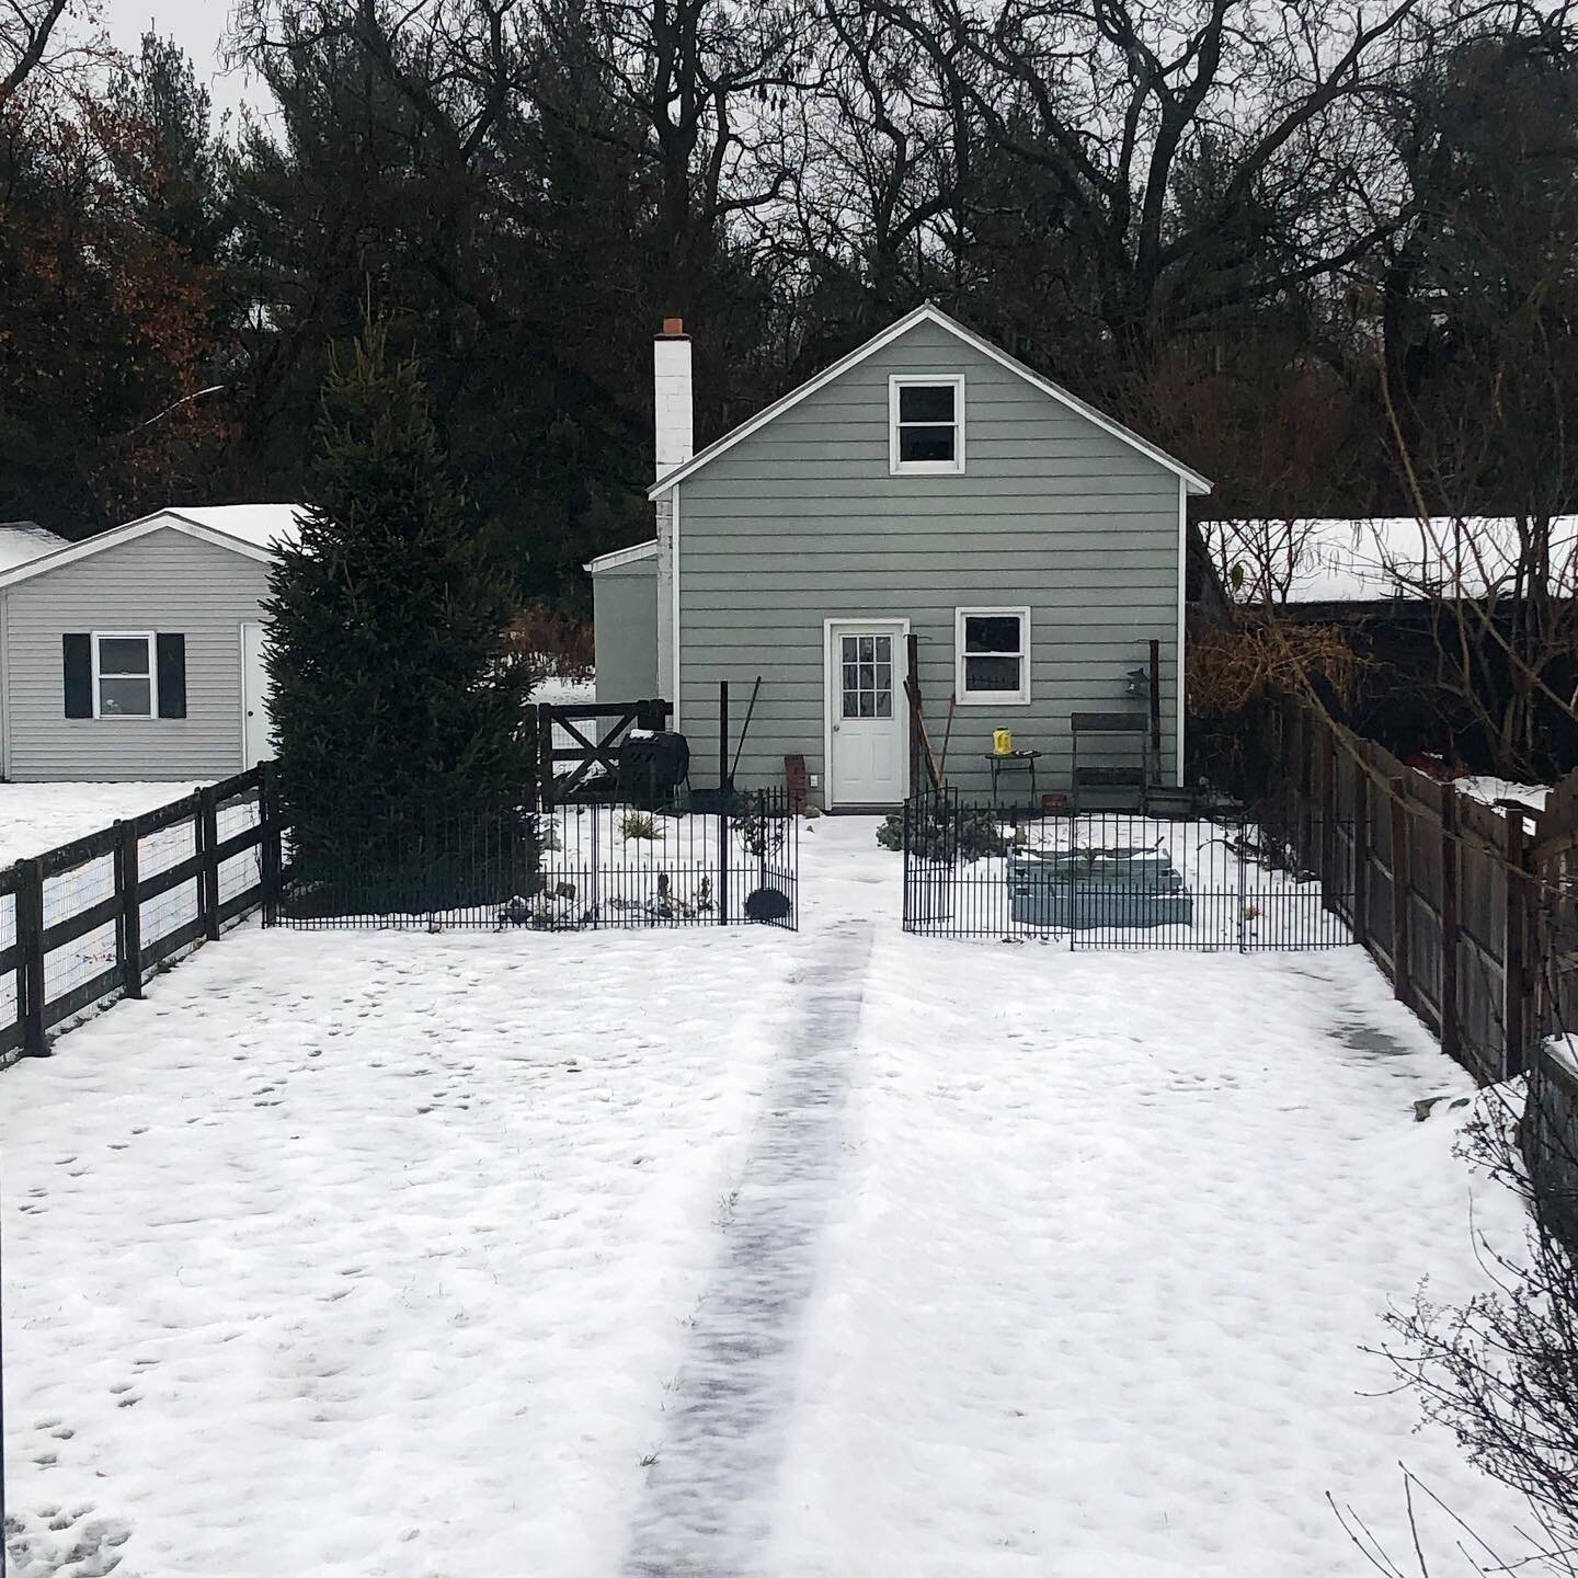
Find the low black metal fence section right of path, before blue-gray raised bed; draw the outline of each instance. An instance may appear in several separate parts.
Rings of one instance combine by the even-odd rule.
[[[1322,828],[1248,814],[1086,816],[922,794],[903,811],[904,929],[1073,948],[1329,948],[1352,942],[1322,888]]]

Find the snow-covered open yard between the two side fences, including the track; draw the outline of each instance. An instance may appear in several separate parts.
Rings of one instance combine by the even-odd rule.
[[[1516,1229],[1362,955],[906,937],[869,821],[800,892],[243,931],[0,1076],[13,1572],[1326,1578],[1398,1460],[1510,1528],[1362,1351]]]

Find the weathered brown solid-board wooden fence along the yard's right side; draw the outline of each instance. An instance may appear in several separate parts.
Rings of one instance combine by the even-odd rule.
[[[1477,1079],[1528,1068],[1559,1007],[1539,963],[1570,925],[1548,877],[1578,781],[1543,813],[1483,805],[1299,704],[1280,710],[1272,748],[1300,846],[1397,999]]]

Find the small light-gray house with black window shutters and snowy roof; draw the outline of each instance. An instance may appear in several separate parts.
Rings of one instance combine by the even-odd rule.
[[[262,601],[295,530],[292,505],[161,510],[0,557],[0,773],[180,781],[265,759]]]

